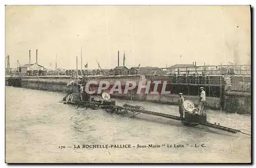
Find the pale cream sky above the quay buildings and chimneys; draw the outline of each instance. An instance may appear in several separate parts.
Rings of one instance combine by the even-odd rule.
[[[249,6],[6,6],[10,67],[250,64]],[[82,49],[82,52],[81,52]],[[82,54],[81,54],[82,53]],[[57,59],[56,59],[57,58]]]

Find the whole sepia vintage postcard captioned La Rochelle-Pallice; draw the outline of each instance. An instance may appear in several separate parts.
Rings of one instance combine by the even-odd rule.
[[[251,163],[250,6],[5,15],[7,163]]]

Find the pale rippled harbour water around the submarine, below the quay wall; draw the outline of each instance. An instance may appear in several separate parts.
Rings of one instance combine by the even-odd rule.
[[[6,87],[7,162],[250,162],[250,136],[139,114],[136,118],[59,103],[65,93]],[[117,100],[178,114],[177,106]],[[207,119],[250,134],[251,117],[209,110]],[[131,145],[82,149],[82,145]],[[160,148],[137,148],[137,145]],[[195,147],[195,144],[199,147]],[[203,147],[202,147],[203,144]],[[75,149],[80,145],[80,149]],[[183,145],[184,148],[167,148]],[[65,146],[65,149],[60,149]],[[134,146],[134,147],[133,147]],[[193,146],[193,147],[191,147]],[[72,148],[68,148],[72,147]]]

